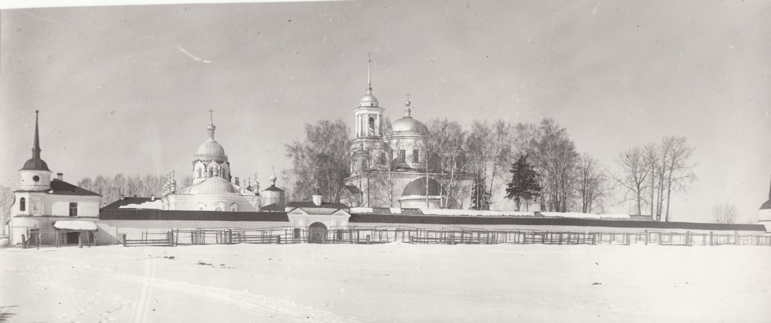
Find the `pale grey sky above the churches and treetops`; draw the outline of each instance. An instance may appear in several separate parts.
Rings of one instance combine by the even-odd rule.
[[[771,2],[301,2],[0,12],[0,185],[17,186],[40,110],[65,180],[191,172],[214,109],[232,173],[288,167],[321,118],[540,122],[615,169],[668,135],[697,146],[675,221],[715,201],[756,217],[771,176]],[[284,183],[279,183],[284,185]],[[613,210],[611,210],[613,211]],[[614,211],[625,212],[627,208]]]

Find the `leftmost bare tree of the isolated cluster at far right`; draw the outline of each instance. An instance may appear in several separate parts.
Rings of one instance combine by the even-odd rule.
[[[635,214],[642,215],[643,205],[647,204],[645,194],[651,188],[649,181],[654,177],[653,165],[645,162],[645,151],[639,147],[621,152],[615,162],[621,168],[621,174],[614,176],[614,179],[624,188],[621,203],[632,201]]]

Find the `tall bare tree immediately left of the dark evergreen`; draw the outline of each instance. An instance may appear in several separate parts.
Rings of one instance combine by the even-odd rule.
[[[475,120],[466,141],[466,151],[471,156],[470,170],[480,174],[484,195],[494,196],[497,191],[496,180],[506,182],[507,167],[513,156],[513,127],[508,122],[497,120],[492,125]],[[492,202],[492,201],[490,201]]]

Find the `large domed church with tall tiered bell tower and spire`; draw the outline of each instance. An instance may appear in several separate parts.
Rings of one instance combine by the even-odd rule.
[[[412,118],[409,95],[402,118],[385,127],[385,108],[372,94],[371,72],[369,65],[365,95],[353,109],[351,176],[345,178],[341,201],[376,208],[470,208],[472,176],[458,174],[452,185],[442,184],[443,175],[432,162],[436,158],[426,149],[429,128]]]

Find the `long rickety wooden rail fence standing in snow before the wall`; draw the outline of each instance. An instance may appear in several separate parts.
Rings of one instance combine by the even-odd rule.
[[[120,241],[129,245],[231,245],[248,244],[381,244],[402,241],[412,244],[442,245],[766,245],[771,246],[771,235],[739,235],[723,233],[692,233],[640,231],[539,231],[539,230],[486,230],[480,228],[449,227],[439,229],[396,227],[342,227],[322,231],[301,228],[196,228],[173,229],[166,232],[144,231],[138,239]]]

